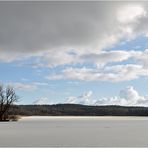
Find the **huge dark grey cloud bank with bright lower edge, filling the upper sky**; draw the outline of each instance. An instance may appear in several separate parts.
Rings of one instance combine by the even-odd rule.
[[[108,3],[1,2],[0,60],[11,62],[47,54],[49,65],[61,65],[72,60],[67,50],[74,49],[78,55],[98,53],[128,38],[127,30],[143,33],[139,21],[147,20],[146,2]],[[125,21],[130,21],[126,27]]]

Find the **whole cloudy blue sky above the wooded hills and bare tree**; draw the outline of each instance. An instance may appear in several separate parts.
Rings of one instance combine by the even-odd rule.
[[[0,83],[19,104],[148,106],[148,2],[0,2]]]

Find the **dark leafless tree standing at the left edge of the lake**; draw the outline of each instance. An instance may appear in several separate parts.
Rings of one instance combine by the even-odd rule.
[[[8,118],[8,111],[14,102],[17,102],[19,97],[16,95],[13,87],[0,85],[0,121]]]

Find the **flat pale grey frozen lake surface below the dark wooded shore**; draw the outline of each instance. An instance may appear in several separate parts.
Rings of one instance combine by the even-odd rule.
[[[24,117],[0,122],[0,147],[148,146],[148,117]]]

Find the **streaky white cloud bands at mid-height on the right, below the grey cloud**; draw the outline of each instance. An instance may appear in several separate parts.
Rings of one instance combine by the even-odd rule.
[[[148,77],[147,49],[144,51],[102,51],[100,54],[85,54],[81,59],[89,64],[95,63],[95,65],[92,67],[64,68],[46,78],[50,80],[72,79],[119,82]],[[122,62],[126,62],[126,64]]]

